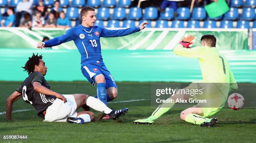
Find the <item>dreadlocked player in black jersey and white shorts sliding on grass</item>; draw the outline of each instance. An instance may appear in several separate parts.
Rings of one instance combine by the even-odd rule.
[[[47,122],[85,123],[93,121],[94,113],[90,111],[76,112],[78,108],[85,104],[96,111],[110,115],[113,120],[128,112],[128,108],[112,110],[99,99],[86,94],[61,95],[52,91],[50,85],[44,79],[47,67],[42,55],[33,54],[32,57],[28,58],[23,69],[28,72],[29,76],[6,101],[6,119],[8,120],[12,119],[13,103],[20,97],[23,97],[28,104],[34,106],[37,115]]]

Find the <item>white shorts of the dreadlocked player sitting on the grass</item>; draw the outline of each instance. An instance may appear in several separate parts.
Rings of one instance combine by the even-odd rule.
[[[77,117],[77,104],[72,94],[63,95],[67,102],[56,99],[54,103],[46,109],[44,121],[46,122],[66,122],[67,117]]]

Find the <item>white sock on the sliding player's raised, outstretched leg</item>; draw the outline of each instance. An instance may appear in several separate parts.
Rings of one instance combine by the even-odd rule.
[[[100,101],[99,99],[96,99],[92,96],[88,96],[86,99],[86,105],[93,108],[96,111],[100,111],[103,113],[110,113],[111,110],[110,108],[108,108],[102,101]]]

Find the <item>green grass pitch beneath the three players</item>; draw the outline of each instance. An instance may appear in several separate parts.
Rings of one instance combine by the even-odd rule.
[[[95,94],[87,82],[49,82],[51,89],[61,94]],[[20,82],[0,82],[0,112],[5,111],[5,101]],[[219,123],[212,128],[200,128],[179,119],[184,108],[176,107],[161,116],[154,125],[134,125],[133,121],[151,115],[156,107],[150,105],[151,83],[118,82],[118,98],[114,101],[148,99],[124,103],[109,103],[110,108],[128,107],[129,112],[119,121],[95,121],[82,125],[70,123],[45,123],[36,111],[12,114],[13,121],[0,115],[0,142],[2,143],[251,143],[256,138],[256,108],[234,111],[223,108],[214,117]],[[250,89],[256,84],[238,84],[243,94],[255,95]],[[251,93],[250,93],[251,92]],[[254,97],[255,98],[255,97]],[[246,99],[245,99],[246,100]],[[174,106],[175,107],[175,106]],[[33,106],[19,99],[13,110],[32,109]],[[99,112],[93,111],[97,116]],[[26,140],[4,140],[4,135],[27,135]]]

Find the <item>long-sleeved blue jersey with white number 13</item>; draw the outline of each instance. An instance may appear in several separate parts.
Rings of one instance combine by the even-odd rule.
[[[107,30],[104,27],[72,27],[64,35],[45,42],[45,47],[52,47],[73,40],[81,54],[81,64],[102,62],[100,37],[120,37],[140,31],[139,27]]]

